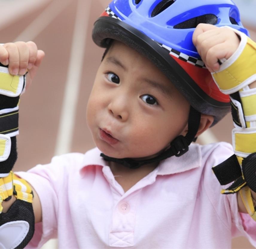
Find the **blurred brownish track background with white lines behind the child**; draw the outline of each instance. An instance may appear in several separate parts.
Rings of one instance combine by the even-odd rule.
[[[256,41],[256,0],[235,2]],[[92,42],[91,30],[108,3],[0,0],[0,42],[32,40],[46,54],[33,84],[21,98],[16,171],[48,163],[57,154],[84,153],[94,147],[85,112],[103,50]],[[226,116],[198,142],[231,142],[231,120],[231,115]],[[244,238],[234,239],[232,246],[253,248]],[[57,248],[57,241],[44,248]]]

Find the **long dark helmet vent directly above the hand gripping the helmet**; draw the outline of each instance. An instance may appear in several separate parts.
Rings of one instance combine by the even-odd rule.
[[[196,28],[199,23],[207,23],[207,24],[217,24],[218,18],[213,14],[206,14],[202,16],[197,16],[186,21],[183,21],[179,24],[176,24],[173,28],[175,29],[190,29]]]

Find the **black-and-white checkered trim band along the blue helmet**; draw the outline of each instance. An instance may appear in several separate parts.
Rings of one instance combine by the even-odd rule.
[[[110,7],[108,6],[106,9],[105,9],[106,13],[112,17],[112,18],[115,18],[115,19],[118,19],[120,21],[122,21],[111,9]],[[153,40],[153,39],[152,39]],[[154,40],[153,40],[154,41]],[[156,41],[157,44],[159,44],[160,47],[162,47],[165,51],[167,51],[170,55],[172,56],[175,56],[177,58],[179,58],[180,60],[182,61],[185,61],[185,62],[188,62],[196,67],[201,67],[201,68],[206,68],[205,67],[205,64],[202,60],[198,59],[198,58],[195,58],[195,57],[192,57],[192,56],[188,56],[184,53],[181,53],[179,52],[178,50],[175,50],[171,47],[168,47],[164,44],[161,44],[159,42]]]

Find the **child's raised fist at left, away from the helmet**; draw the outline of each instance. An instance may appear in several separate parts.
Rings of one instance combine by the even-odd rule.
[[[0,62],[9,65],[8,69],[11,74],[24,75],[28,69],[26,88],[31,84],[44,56],[45,53],[37,50],[36,44],[32,41],[17,41],[0,45]]]

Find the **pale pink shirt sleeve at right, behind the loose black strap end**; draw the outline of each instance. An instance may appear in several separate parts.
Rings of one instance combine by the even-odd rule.
[[[246,213],[240,213],[237,205],[237,194],[221,194],[222,188],[212,171],[217,166],[234,154],[233,148],[227,143],[219,143],[212,151],[202,151],[206,158],[204,186],[208,198],[213,205],[217,216],[230,230],[232,237],[244,236],[256,247],[256,222]]]

